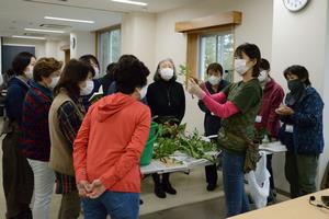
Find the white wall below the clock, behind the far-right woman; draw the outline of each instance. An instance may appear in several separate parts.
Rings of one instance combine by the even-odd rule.
[[[272,71],[279,73],[277,81],[286,88],[286,81],[282,76],[283,70],[294,64],[305,66],[310,73],[313,85],[329,101],[329,91],[324,93],[325,78],[329,81],[325,71],[325,53],[326,53],[326,33],[328,27],[327,13],[328,1],[310,1],[308,7],[298,13],[287,11],[283,1],[275,0],[273,4],[273,36],[272,36]],[[327,36],[328,37],[328,36]],[[327,51],[329,49],[327,48]],[[328,59],[327,59],[328,60]],[[328,61],[327,61],[328,62]],[[329,66],[327,64],[327,71]],[[328,107],[325,110],[325,137],[328,142]],[[328,114],[328,113],[327,113]],[[319,164],[319,176],[321,177],[324,168],[328,161],[328,146],[322,153]],[[275,159],[276,184],[280,188],[288,191],[284,177],[284,158],[277,155]]]

